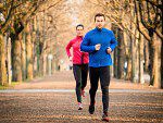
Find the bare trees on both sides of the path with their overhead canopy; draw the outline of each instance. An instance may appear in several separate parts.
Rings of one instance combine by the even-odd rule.
[[[74,36],[74,26],[83,23],[89,30],[95,13],[103,12],[118,40],[114,77],[143,83],[143,70],[150,69],[150,85],[163,87],[161,10],[161,0],[2,0],[0,83],[11,82],[11,67],[12,81],[45,75],[49,53],[57,69],[59,60],[66,57],[64,48]]]

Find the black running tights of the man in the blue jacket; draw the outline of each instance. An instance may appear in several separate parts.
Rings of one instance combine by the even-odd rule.
[[[103,112],[109,110],[109,85],[110,85],[110,67],[89,67],[90,73],[90,104],[95,104],[95,97],[98,89],[98,82],[100,78],[101,90],[102,90],[102,103]]]

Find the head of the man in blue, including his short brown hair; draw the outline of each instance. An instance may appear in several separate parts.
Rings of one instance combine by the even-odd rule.
[[[104,16],[104,14],[97,13],[95,15],[95,23],[96,23],[96,27],[101,29],[104,26],[104,24],[105,24],[105,16]]]

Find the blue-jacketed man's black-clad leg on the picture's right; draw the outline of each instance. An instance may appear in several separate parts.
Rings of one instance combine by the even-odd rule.
[[[109,111],[109,85],[110,85],[110,67],[100,67],[100,83],[102,90],[103,116],[108,118]]]

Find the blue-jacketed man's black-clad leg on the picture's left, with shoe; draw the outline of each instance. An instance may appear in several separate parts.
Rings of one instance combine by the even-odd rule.
[[[90,76],[90,106],[89,113],[92,114],[95,111],[95,97],[98,89],[98,81],[99,81],[99,71],[97,67],[89,67],[89,76]]]

